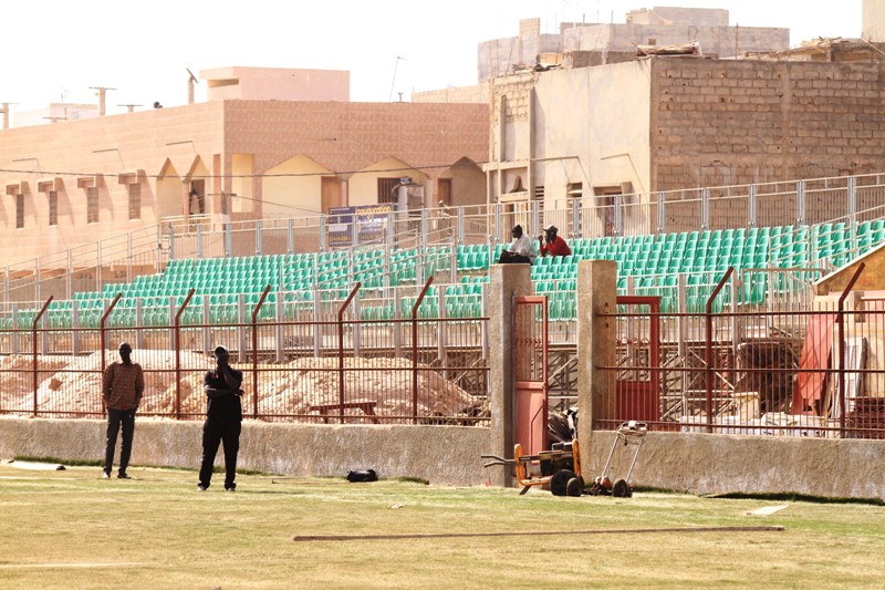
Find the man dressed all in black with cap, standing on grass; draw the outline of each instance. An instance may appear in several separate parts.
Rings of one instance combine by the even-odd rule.
[[[230,353],[225,346],[215,349],[216,368],[202,379],[208,397],[206,422],[202,425],[202,463],[197,489],[205,491],[212,479],[212,466],[219,443],[225,447],[225,489],[233,491],[237,484],[237,453],[240,449],[243,391],[242,371],[230,366]]]

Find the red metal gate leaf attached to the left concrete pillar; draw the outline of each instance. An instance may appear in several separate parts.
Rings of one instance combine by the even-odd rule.
[[[525,455],[548,449],[546,297],[513,298],[516,442]]]

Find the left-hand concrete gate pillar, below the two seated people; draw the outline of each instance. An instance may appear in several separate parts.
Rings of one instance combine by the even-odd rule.
[[[489,269],[489,402],[491,407],[490,453],[513,458],[513,297],[533,294],[529,265],[492,265]],[[489,479],[499,486],[513,485],[512,467],[489,467]]]

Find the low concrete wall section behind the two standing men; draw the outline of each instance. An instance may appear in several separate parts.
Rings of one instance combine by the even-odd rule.
[[[104,432],[105,422],[96,420],[0,417],[0,457],[101,459]],[[201,437],[201,422],[137,420],[132,463],[198,468]],[[490,431],[482,427],[246,421],[238,467],[290,476],[344,476],[351,469],[372,468],[381,477],[410,476],[439,485],[477,485],[489,477],[480,455],[490,448]],[[223,464],[222,457],[219,449],[218,465]]]

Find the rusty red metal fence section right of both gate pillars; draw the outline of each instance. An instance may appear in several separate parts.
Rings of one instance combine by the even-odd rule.
[[[723,306],[731,271],[702,312],[618,298],[615,364],[604,366],[614,400],[597,426],[885,438],[885,298],[853,293],[863,268],[812,309]]]

